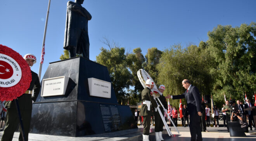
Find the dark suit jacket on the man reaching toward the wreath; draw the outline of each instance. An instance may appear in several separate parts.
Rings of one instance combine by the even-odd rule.
[[[193,111],[194,108],[196,108],[197,112],[202,112],[202,107],[201,107],[202,102],[201,102],[199,90],[197,89],[197,87],[191,85],[188,92],[186,90],[181,95],[173,95],[173,99],[183,99],[183,98],[186,98],[187,100],[187,109],[189,110],[189,114],[191,114],[190,111]]]

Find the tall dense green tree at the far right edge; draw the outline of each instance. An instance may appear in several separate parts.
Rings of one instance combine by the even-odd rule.
[[[256,23],[240,27],[218,25],[208,32],[208,51],[217,66],[214,75],[214,97],[243,99],[243,92],[256,88]],[[250,96],[249,96],[250,97]]]

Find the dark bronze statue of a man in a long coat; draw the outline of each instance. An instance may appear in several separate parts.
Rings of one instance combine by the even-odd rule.
[[[83,1],[67,2],[64,49],[69,51],[69,58],[76,57],[78,53],[89,59],[88,20],[92,15],[81,6]]]

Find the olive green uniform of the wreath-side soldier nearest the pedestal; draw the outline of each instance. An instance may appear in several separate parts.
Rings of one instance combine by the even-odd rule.
[[[146,87],[144,90],[142,90],[141,93],[141,99],[144,102],[145,100],[150,101],[150,110],[147,110],[147,105],[142,104],[141,109],[140,109],[140,114],[143,116],[143,134],[144,135],[149,135],[149,129],[150,129],[150,119],[151,115],[153,115],[152,112],[152,106],[157,107],[156,100],[154,100],[154,97],[150,95],[150,88]]]

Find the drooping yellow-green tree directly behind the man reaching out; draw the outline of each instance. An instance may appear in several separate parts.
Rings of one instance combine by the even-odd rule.
[[[206,46],[205,46],[206,47]],[[192,85],[199,88],[201,94],[209,95],[211,92],[211,74],[209,66],[213,65],[209,53],[204,48],[191,45],[182,48],[180,44],[163,51],[157,70],[158,82],[166,86],[164,95],[180,95],[185,92],[182,87],[184,79],[190,80]],[[173,105],[180,101],[170,100]],[[185,99],[182,99],[185,103]]]

